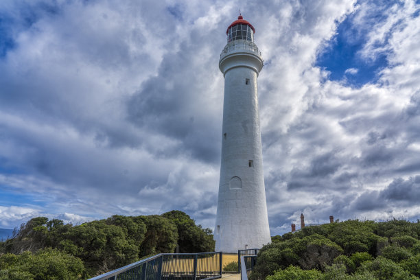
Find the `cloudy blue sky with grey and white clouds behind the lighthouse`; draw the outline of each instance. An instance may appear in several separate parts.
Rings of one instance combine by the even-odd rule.
[[[264,58],[272,235],[420,218],[420,1],[0,1],[0,228],[177,209],[213,229],[226,27]]]

